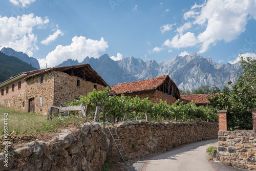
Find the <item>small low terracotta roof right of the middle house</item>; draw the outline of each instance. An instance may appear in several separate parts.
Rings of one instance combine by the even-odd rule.
[[[180,101],[183,101],[185,104],[193,101],[198,105],[206,105],[209,103],[209,100],[206,97],[210,97],[210,94],[180,95]]]

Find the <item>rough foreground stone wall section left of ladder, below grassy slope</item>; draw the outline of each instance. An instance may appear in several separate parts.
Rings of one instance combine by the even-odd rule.
[[[77,171],[102,170],[110,151],[110,141],[103,137],[99,123],[62,130],[48,142],[32,141],[19,145],[9,142],[9,167],[4,166],[5,153],[0,153],[0,170]]]

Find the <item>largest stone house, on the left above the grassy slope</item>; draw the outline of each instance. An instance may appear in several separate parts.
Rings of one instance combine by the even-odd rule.
[[[47,115],[50,106],[104,90],[109,85],[86,63],[24,72],[0,83],[0,105]]]

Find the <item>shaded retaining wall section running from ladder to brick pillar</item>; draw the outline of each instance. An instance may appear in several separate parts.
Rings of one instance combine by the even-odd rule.
[[[166,152],[181,144],[218,138],[217,123],[131,121],[115,126],[130,159]],[[111,142],[112,157],[120,159],[113,139]]]

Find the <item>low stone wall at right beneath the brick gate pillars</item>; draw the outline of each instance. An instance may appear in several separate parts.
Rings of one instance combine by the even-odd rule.
[[[256,169],[256,131],[219,131],[219,160],[227,165]]]

